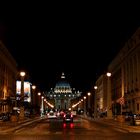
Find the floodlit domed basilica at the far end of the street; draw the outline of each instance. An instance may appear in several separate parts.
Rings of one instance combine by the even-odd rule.
[[[55,109],[68,110],[72,106],[72,100],[81,96],[81,92],[75,91],[71,88],[70,84],[66,81],[64,73],[61,75],[60,81],[58,81],[46,96],[52,100]]]

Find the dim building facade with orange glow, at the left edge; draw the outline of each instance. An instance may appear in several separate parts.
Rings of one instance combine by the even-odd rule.
[[[0,41],[0,113],[10,112],[15,102],[17,64]]]

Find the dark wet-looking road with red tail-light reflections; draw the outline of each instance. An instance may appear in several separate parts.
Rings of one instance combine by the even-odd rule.
[[[41,120],[0,135],[0,140],[139,140],[140,133],[129,133],[106,123],[75,118]]]

